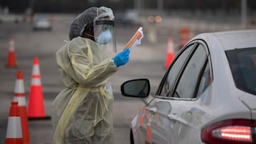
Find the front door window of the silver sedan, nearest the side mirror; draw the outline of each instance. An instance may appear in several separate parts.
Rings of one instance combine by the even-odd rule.
[[[174,86],[178,73],[180,72],[181,67],[183,66],[193,47],[194,45],[189,45],[186,50],[183,50],[183,52],[178,56],[174,64],[171,66],[171,69],[169,70],[169,73],[164,81],[164,85],[161,89],[161,96],[167,96],[168,92],[170,92],[171,88]]]

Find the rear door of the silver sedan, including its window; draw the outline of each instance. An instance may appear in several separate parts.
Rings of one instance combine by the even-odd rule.
[[[196,138],[200,135],[200,130],[194,131],[196,125],[191,121],[197,121],[204,114],[203,107],[195,98],[209,86],[211,82],[209,72],[208,53],[203,45],[198,44],[169,94],[173,99],[169,101],[171,113],[167,117],[175,121],[174,133],[177,143],[200,142],[200,138]],[[191,141],[189,138],[196,138],[198,141]]]

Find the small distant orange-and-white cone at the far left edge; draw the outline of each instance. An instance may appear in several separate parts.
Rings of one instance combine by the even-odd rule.
[[[16,67],[16,56],[15,56],[15,49],[14,49],[14,37],[11,36],[9,42],[9,54],[7,57],[6,67],[15,68]]]

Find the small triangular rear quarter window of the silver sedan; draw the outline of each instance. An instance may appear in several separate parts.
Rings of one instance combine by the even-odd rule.
[[[212,81],[212,77],[210,76],[210,65],[209,65],[209,62],[206,61],[206,68],[203,71],[203,75],[201,77],[201,81],[198,87],[198,93],[196,94],[196,97],[202,94],[207,89],[211,81]]]

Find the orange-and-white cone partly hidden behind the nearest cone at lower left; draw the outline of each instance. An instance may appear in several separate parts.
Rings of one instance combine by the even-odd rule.
[[[28,132],[28,115],[26,112],[26,97],[23,82],[23,73],[21,70],[17,72],[17,79],[14,89],[14,101],[18,101],[18,107],[21,114],[21,128],[23,134],[23,144],[29,144],[29,132]]]

